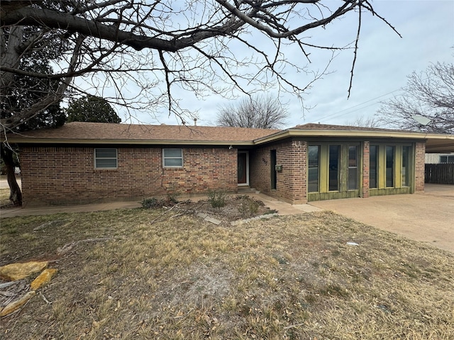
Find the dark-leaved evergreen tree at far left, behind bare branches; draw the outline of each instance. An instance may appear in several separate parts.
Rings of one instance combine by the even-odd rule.
[[[6,47],[11,39],[20,43],[32,39],[38,28],[26,26],[21,28],[22,35],[17,36],[12,28],[1,30],[1,57],[6,59]],[[14,45],[14,44],[12,44]],[[24,72],[51,73],[50,60],[58,60],[61,45],[51,36],[37,43],[33,49],[16,49],[21,52],[17,61],[18,67]],[[13,58],[14,60],[18,58]],[[3,60],[2,60],[3,61]],[[0,119],[2,132],[24,132],[40,128],[56,128],[65,123],[65,112],[60,108],[59,100],[48,101],[50,94],[55,93],[59,81],[50,78],[38,78],[28,74],[1,73],[2,88],[0,92]],[[45,103],[45,105],[40,105]],[[33,113],[30,113],[33,111]],[[19,166],[16,146],[9,145],[7,140],[1,145],[1,167],[6,172],[10,188],[9,199],[14,205],[22,204],[21,188],[15,176],[15,168]]]

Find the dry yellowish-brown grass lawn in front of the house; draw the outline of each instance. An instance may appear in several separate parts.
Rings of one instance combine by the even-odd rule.
[[[2,219],[0,265],[58,273],[0,338],[454,339],[452,253],[332,212],[235,227],[161,213]]]

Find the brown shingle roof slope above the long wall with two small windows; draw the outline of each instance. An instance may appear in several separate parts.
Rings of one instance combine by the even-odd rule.
[[[21,140],[252,142],[280,130],[185,125],[67,123],[56,129],[22,132]],[[13,137],[13,136],[10,136]],[[16,135],[16,137],[19,137]]]

